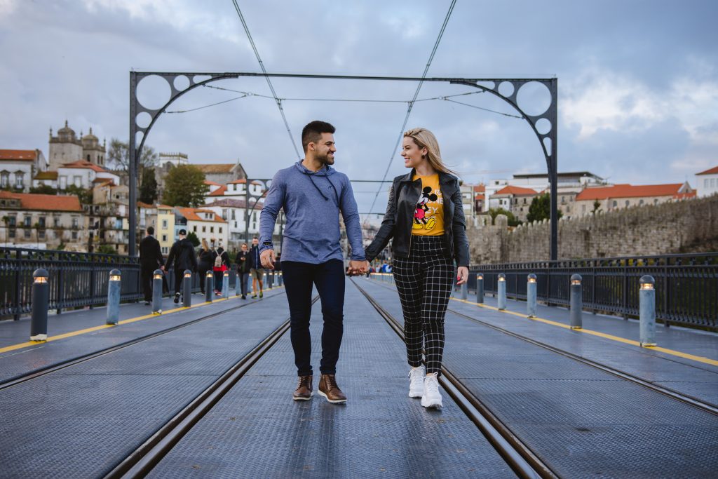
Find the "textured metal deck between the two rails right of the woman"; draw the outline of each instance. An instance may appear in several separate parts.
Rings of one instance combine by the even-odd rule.
[[[364,284],[401,318],[395,291]],[[715,476],[714,414],[450,312],[446,330],[444,365],[560,476]]]

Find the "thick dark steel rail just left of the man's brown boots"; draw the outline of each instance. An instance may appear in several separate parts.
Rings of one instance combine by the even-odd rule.
[[[312,299],[312,304],[319,297]],[[116,465],[104,479],[144,478],[172,450],[177,442],[205,417],[210,409],[227,394],[249,369],[289,330],[289,319],[261,340],[249,353],[202,391],[182,411],[157,429],[136,450]]]

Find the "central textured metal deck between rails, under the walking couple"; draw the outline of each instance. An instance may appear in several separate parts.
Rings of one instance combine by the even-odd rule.
[[[318,304],[311,330],[316,391]],[[149,477],[515,477],[447,394],[442,411],[409,398],[404,345],[350,282],[337,364],[348,403],[292,401],[295,371],[285,334]]]

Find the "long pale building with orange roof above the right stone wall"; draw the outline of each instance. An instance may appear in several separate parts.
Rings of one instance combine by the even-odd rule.
[[[688,182],[668,185],[611,185],[587,187],[575,199],[575,215],[583,216],[595,210],[604,212],[629,206],[658,205],[668,201],[696,197]]]

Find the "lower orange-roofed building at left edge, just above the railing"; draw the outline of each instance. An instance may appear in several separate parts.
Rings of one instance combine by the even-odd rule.
[[[0,246],[85,251],[85,215],[75,195],[0,191],[0,218]]]

